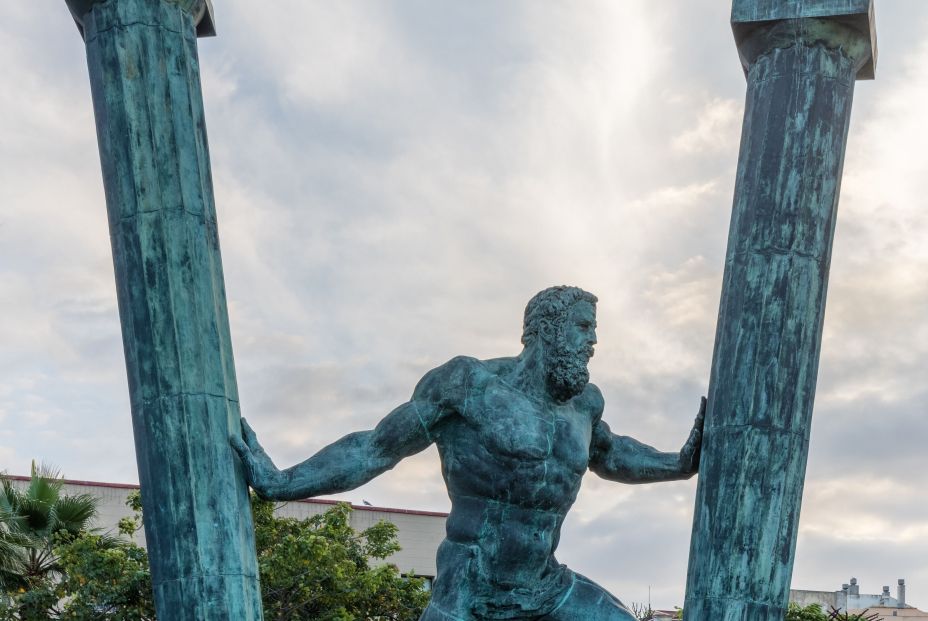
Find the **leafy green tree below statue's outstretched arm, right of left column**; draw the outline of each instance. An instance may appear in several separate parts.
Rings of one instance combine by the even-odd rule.
[[[416,621],[422,614],[428,593],[421,579],[370,565],[399,550],[395,525],[355,532],[347,504],[306,520],[275,518],[273,507],[252,502],[268,620]]]

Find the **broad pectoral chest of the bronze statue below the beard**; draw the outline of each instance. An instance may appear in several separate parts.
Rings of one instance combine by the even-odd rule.
[[[591,435],[586,413],[530,399],[502,382],[487,386],[479,407],[481,444],[489,453],[586,469]]]

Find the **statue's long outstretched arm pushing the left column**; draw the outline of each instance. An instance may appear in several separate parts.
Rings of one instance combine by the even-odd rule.
[[[436,427],[463,403],[464,373],[451,362],[430,371],[412,399],[390,412],[374,429],[348,434],[286,470],[278,470],[242,420],[242,437],[232,446],[245,478],[259,495],[296,500],[352,490],[393,468],[434,441]]]

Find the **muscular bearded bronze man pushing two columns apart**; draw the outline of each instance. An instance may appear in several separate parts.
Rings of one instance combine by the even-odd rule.
[[[458,357],[429,371],[409,402],[278,470],[245,421],[232,438],[260,495],[293,500],[354,489],[433,442],[451,497],[447,537],[423,621],[630,621],[615,597],[554,558],[587,469],[623,483],[696,473],[705,399],[679,453],[613,434],[589,383],[596,297],[551,287],[525,309],[522,353]]]

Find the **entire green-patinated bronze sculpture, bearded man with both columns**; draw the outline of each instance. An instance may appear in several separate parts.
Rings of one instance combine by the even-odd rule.
[[[839,4],[859,3],[818,8]],[[609,430],[586,374],[595,298],[543,292],[527,309],[521,354],[456,358],[375,429],[278,470],[247,427],[239,438],[197,65],[206,4],[69,6],[87,44],[159,617],[261,617],[231,436],[248,480],[274,498],[352,489],[437,444],[452,512],[425,619],[633,618],[557,563],[563,519],[587,469],[627,483],[691,476],[701,423],[678,453]],[[782,619],[853,85],[873,54],[869,32],[802,13],[815,3],[778,6],[800,14],[770,14],[780,21],[739,34],[747,112],[691,544],[691,621]]]

